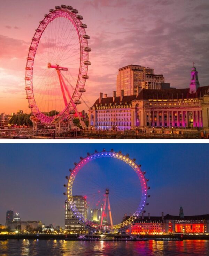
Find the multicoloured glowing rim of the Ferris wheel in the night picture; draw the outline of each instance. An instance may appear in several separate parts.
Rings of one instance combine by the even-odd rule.
[[[89,221],[87,223],[86,221],[83,220],[82,214],[80,214],[79,212],[76,212],[76,207],[73,206],[72,187],[73,187],[73,182],[75,180],[75,177],[76,177],[78,171],[80,169],[82,169],[82,167],[85,164],[87,164],[88,162],[90,162],[94,159],[102,158],[102,157],[113,157],[113,158],[124,161],[126,164],[128,164],[132,167],[132,169],[137,173],[139,180],[140,180],[142,195],[141,195],[140,204],[139,204],[137,210],[133,213],[132,216],[130,216],[129,219],[123,221],[122,223],[113,225],[110,228],[110,230],[124,229],[127,225],[131,224],[137,217],[139,217],[140,213],[143,211],[144,206],[147,201],[147,196],[148,196],[147,191],[150,187],[147,186],[147,180],[145,178],[145,173],[141,171],[140,165],[137,165],[135,163],[135,161],[133,161],[131,158],[129,158],[129,156],[122,154],[121,151],[119,151],[119,152],[115,152],[112,150],[111,151],[103,150],[100,152],[96,151],[95,153],[87,155],[87,157],[85,157],[85,158],[81,158],[81,160],[78,163],[74,163],[75,167],[71,170],[71,174],[68,177],[67,193],[64,193],[64,194],[67,195],[67,200],[69,202],[70,208],[73,211],[73,213],[76,215],[76,217],[79,219],[79,221],[82,221],[87,228],[90,228],[92,230],[97,230],[98,228],[94,228],[94,227],[91,227],[90,225],[88,225],[88,223],[92,223],[91,221]],[[143,183],[143,185],[142,185],[142,183]]]

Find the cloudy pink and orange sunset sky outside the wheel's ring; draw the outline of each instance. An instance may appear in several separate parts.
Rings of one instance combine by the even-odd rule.
[[[1,0],[0,113],[29,113],[25,66],[34,30],[55,5],[71,5],[84,17],[92,48],[85,96],[112,95],[118,68],[138,64],[162,73],[171,86],[189,86],[192,62],[200,85],[209,77],[208,0]],[[87,107],[82,104],[79,110]]]

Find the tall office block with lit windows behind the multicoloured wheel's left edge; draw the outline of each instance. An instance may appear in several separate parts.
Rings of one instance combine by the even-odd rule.
[[[78,212],[82,214],[83,220],[87,220],[87,202],[83,196],[73,196],[73,201]],[[68,200],[65,200],[65,230],[67,233],[85,233],[87,229],[82,221],[80,221],[72,209]]]

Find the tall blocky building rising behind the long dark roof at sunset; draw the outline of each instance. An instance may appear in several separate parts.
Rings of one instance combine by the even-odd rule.
[[[140,65],[128,65],[119,68],[117,75],[116,96],[121,95],[121,90],[126,95],[136,95],[140,89],[170,89],[170,84],[165,83],[162,74],[155,74],[153,68]]]

